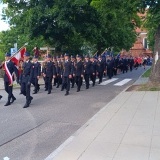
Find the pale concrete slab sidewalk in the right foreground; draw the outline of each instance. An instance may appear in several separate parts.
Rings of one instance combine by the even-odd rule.
[[[160,92],[122,92],[45,160],[160,160]]]

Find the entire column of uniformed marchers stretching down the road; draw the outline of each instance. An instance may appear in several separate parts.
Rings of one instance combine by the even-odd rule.
[[[39,56],[35,55],[31,61],[30,54],[24,54],[23,61],[20,62],[19,69],[11,60],[11,54],[5,55],[5,62],[0,66],[4,68],[4,86],[8,93],[8,100],[5,106],[11,105],[15,100],[13,95],[13,73],[16,75],[16,81],[20,84],[20,92],[26,97],[26,103],[23,108],[30,106],[33,97],[31,96],[31,84],[34,86],[33,94],[37,94],[40,90],[38,83],[42,76],[45,84],[45,91],[51,94],[53,86],[61,91],[66,91],[65,96],[69,95],[70,88],[77,87],[77,92],[80,92],[83,79],[86,89],[90,85],[95,86],[96,79],[98,83],[102,83],[103,76],[108,76],[111,79],[118,73],[127,73],[133,69],[138,69],[143,65],[144,69],[147,64],[147,57],[134,58],[132,56],[92,56],[86,55],[69,55],[52,57],[51,54],[45,56],[42,63],[38,60]],[[54,81],[53,81],[54,80]],[[92,84],[90,84],[90,81]],[[53,84],[52,84],[53,83]],[[71,85],[71,86],[70,86]],[[0,96],[0,99],[2,96]]]

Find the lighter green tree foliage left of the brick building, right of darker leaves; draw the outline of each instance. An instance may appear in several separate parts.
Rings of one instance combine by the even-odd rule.
[[[93,0],[92,5],[101,16],[105,44],[118,50],[122,48],[129,50],[136,40],[135,27],[140,26],[137,2]]]

